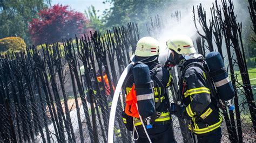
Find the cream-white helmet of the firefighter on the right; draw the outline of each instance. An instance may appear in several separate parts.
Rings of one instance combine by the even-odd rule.
[[[186,35],[176,35],[167,41],[167,47],[178,54],[194,54],[197,53],[194,48],[193,41]]]

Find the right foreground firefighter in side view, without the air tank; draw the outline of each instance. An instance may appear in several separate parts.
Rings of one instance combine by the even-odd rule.
[[[166,65],[178,65],[181,71],[180,102],[177,103],[184,108],[177,116],[189,120],[188,128],[197,135],[198,142],[220,142],[222,116],[207,82],[203,56],[196,52],[191,38],[186,35],[172,37],[167,47],[171,54]]]

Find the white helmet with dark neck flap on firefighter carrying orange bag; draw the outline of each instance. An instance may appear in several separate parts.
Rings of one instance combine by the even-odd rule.
[[[159,42],[152,37],[143,37],[137,42],[135,54],[132,55],[132,62],[156,61],[159,55]]]

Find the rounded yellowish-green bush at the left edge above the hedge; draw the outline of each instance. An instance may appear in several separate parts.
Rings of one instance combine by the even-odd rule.
[[[26,44],[22,38],[6,37],[0,39],[0,52],[8,52],[10,50],[19,51],[25,48]]]

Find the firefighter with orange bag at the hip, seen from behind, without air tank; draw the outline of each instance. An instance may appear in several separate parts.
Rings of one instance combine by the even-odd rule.
[[[152,128],[146,129],[152,142],[175,142],[173,136],[172,119],[169,112],[169,96],[167,88],[171,84],[172,76],[169,70],[161,67],[158,63],[159,42],[151,37],[144,37],[137,43],[137,49],[131,62],[144,63],[149,66],[151,76],[156,76],[158,80],[153,81],[153,95],[156,106],[156,116],[151,118],[154,123]],[[153,78],[154,79],[154,78]],[[134,83],[133,73],[127,74],[123,84],[125,94],[129,94]],[[127,98],[126,98],[127,101]],[[126,104],[127,105],[127,104]],[[135,142],[149,142],[144,131],[142,121],[139,118],[127,116],[123,112],[123,120],[129,131],[133,131]],[[129,121],[130,120],[130,121]],[[133,120],[133,121],[132,121]],[[134,128],[134,126],[135,128]],[[130,126],[130,127],[129,127]]]

